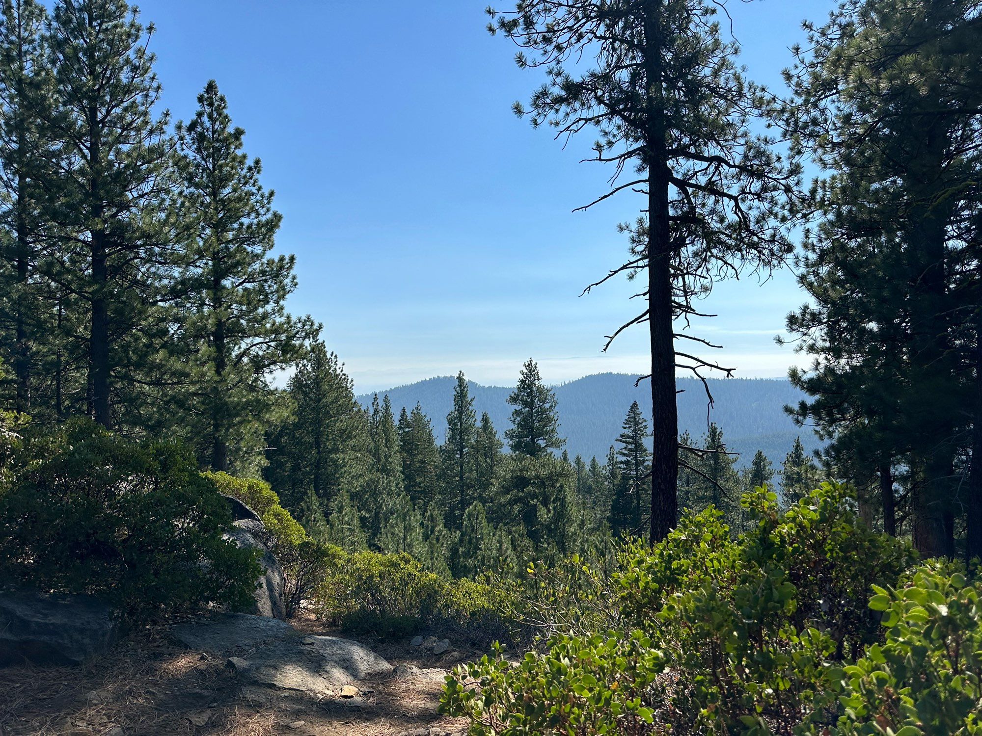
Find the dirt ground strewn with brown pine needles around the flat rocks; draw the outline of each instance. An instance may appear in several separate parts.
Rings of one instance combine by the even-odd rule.
[[[345,636],[315,621],[295,625],[309,634]],[[409,640],[380,643],[348,638],[356,638],[393,665],[411,664],[430,671],[362,683],[354,705],[290,694],[250,699],[226,667],[225,657],[176,647],[166,629],[147,629],[121,642],[111,655],[81,667],[0,669],[0,736],[456,736],[462,732],[462,721],[437,713],[443,682],[441,673],[433,670],[449,670],[477,653],[452,648],[435,657],[410,648]]]

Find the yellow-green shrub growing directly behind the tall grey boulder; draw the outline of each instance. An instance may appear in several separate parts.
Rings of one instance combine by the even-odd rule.
[[[265,528],[265,537],[260,541],[273,552],[283,569],[283,600],[287,615],[297,613],[300,603],[321,585],[328,569],[338,565],[341,551],[310,539],[300,523],[280,504],[280,497],[268,483],[236,478],[220,471],[202,475],[221,493],[241,500],[259,516]]]

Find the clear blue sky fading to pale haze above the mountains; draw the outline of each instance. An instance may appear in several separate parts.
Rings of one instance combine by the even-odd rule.
[[[622,262],[630,195],[587,212],[608,172],[578,164],[591,134],[562,146],[511,112],[541,83],[485,30],[485,0],[144,0],[175,120],[217,79],[297,255],[296,313],[373,391],[464,370],[514,383],[528,357],[551,383],[645,372],[643,328],[602,354],[636,309],[624,282],[582,288]],[[781,87],[804,17],[826,0],[731,0],[751,79]],[[501,4],[504,9],[506,4]],[[802,300],[790,273],[724,285],[700,334],[737,375],[782,376],[773,338]],[[639,311],[639,310],[638,310]]]

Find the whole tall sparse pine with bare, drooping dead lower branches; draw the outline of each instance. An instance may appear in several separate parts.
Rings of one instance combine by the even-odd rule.
[[[615,274],[644,273],[643,312],[612,333],[645,324],[654,407],[650,529],[652,542],[676,523],[679,436],[676,371],[722,368],[677,349],[675,320],[728,274],[778,267],[791,245],[782,209],[797,181],[772,141],[751,132],[768,98],[742,79],[736,43],[720,37],[714,0],[518,0],[489,11],[491,32],[519,46],[518,66],[545,70],[526,111],[566,138],[594,128],[598,162],[616,172],[617,192],[641,192],[641,216],[624,226],[627,262]],[[592,61],[593,64],[590,64]],[[596,285],[593,285],[596,286]],[[610,338],[613,340],[614,338]],[[609,343],[609,342],[608,342]],[[708,343],[705,343],[708,344]]]

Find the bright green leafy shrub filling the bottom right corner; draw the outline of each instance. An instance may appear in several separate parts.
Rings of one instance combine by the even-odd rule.
[[[834,667],[843,736],[982,734],[982,590],[953,563],[933,562],[897,588],[878,587],[887,638],[855,664]]]

